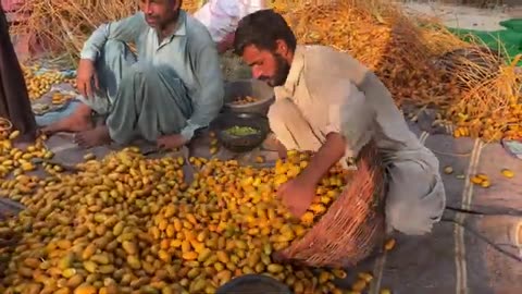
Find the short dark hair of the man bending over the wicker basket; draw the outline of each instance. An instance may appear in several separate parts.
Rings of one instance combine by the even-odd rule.
[[[243,56],[245,47],[253,45],[258,49],[275,51],[276,41],[282,39],[294,52],[296,36],[285,19],[271,9],[251,13],[239,21],[234,37],[234,51]]]

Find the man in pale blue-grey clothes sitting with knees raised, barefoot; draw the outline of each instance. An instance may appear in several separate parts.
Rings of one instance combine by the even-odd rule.
[[[83,147],[186,144],[223,106],[219,54],[207,28],[181,9],[181,0],[140,1],[141,12],[100,26],[82,51],[77,87],[84,102],[42,131],[77,132]],[[137,58],[126,42],[137,47]],[[94,126],[91,112],[107,115]]]

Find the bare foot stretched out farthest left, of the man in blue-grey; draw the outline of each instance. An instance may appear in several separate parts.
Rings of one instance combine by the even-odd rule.
[[[58,132],[77,133],[91,130],[94,127],[90,118],[91,112],[92,110],[88,106],[80,105],[73,114],[52,123],[40,131],[46,135],[52,135]]]

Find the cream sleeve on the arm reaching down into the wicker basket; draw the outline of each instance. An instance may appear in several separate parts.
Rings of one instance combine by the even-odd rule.
[[[350,158],[357,158],[360,150],[373,136],[375,113],[364,94],[352,83],[345,82],[338,95],[328,97],[328,124],[325,134],[339,133],[346,140],[346,151],[343,163]]]

